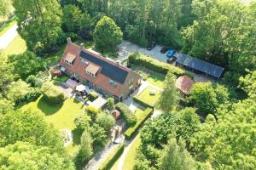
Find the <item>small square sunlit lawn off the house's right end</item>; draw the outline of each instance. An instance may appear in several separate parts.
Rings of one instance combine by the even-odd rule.
[[[155,94],[154,95],[150,95],[149,92],[150,90],[154,90]],[[157,100],[160,97],[160,91],[155,89],[155,88],[151,88],[148,86],[148,88],[144,89],[144,91],[139,94],[137,96],[138,99],[143,100],[144,102],[150,104],[150,105],[155,105],[155,103],[157,102]]]

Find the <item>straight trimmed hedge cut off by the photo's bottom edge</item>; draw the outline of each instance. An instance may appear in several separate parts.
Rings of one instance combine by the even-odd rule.
[[[119,159],[119,157],[123,154],[123,151],[125,150],[124,144],[119,144],[113,152],[109,154],[109,156],[103,161],[102,165],[99,167],[99,170],[108,170],[110,169],[114,162]]]

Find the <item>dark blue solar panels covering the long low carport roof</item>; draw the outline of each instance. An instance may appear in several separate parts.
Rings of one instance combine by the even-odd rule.
[[[224,68],[218,65],[212,65],[207,61],[204,61],[201,59],[195,59],[185,54],[179,54],[176,62],[178,64],[189,66],[192,69],[207,73],[208,75],[211,75],[212,77],[217,77],[217,78],[219,78],[222,72],[224,71]]]

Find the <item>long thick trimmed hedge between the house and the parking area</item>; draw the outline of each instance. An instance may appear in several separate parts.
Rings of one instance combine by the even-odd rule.
[[[168,71],[171,71],[174,75],[178,77],[186,73],[185,71],[176,66],[161,62],[157,59],[148,57],[147,55],[138,54],[137,52],[131,54],[128,57],[128,61],[129,64],[142,65],[149,70],[159,72],[161,74],[167,74]]]

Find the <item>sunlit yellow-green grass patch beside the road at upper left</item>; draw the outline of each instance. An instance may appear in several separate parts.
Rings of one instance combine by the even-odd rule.
[[[3,49],[3,53],[10,54],[22,54],[26,51],[26,42],[20,37],[17,36],[15,39],[9,43],[9,45]]]

